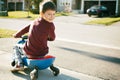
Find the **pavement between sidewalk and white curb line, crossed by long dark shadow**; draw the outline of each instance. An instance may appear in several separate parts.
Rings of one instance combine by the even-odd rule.
[[[0,50],[12,53],[18,39],[0,39]],[[120,51],[64,41],[49,43],[50,54],[56,56],[55,65],[99,77],[105,80],[119,80]]]

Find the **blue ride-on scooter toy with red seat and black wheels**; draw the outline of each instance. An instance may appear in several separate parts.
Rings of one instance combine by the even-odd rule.
[[[27,41],[27,36],[23,36],[20,41],[16,44],[19,48],[23,48],[24,43]],[[23,64],[27,68],[32,69],[30,72],[31,80],[37,80],[38,70],[47,69],[48,67],[52,70],[54,76],[58,76],[60,70],[53,65],[55,57],[52,55],[46,55],[42,58],[29,59],[25,56],[22,57]],[[15,62],[11,63],[12,66],[15,65]]]

